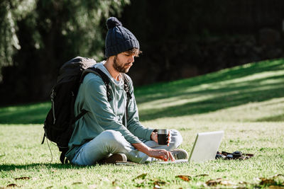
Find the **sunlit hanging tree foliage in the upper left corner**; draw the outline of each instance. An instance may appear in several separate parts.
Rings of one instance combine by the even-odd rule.
[[[0,67],[13,63],[13,54],[21,50],[18,35],[18,22],[31,19],[33,39],[36,48],[43,48],[40,28],[50,32],[57,25],[60,34],[74,45],[75,52],[82,55],[102,57],[102,30],[100,21],[110,14],[121,13],[121,7],[129,4],[125,1],[38,1],[38,0],[3,0],[0,3]],[[30,18],[28,18],[30,17]],[[38,19],[40,18],[40,19]],[[59,24],[59,25],[58,25]],[[89,54],[92,52],[91,54]],[[97,54],[100,52],[100,54]]]

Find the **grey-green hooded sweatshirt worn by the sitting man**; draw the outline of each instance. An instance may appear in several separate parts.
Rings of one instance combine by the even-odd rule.
[[[129,76],[129,91],[131,100],[129,101],[127,127],[124,125],[124,114],[126,110],[126,92],[124,91],[124,81],[120,76],[116,81],[109,71],[104,67],[104,62],[99,62],[94,67],[104,71],[110,79],[111,101],[107,100],[107,87],[100,76],[89,73],[84,77],[80,85],[75,101],[75,116],[82,109],[88,112],[75,122],[74,132],[68,144],[67,159],[72,160],[76,150],[84,143],[94,139],[104,130],[116,130],[121,132],[129,143],[141,143],[141,139],[151,139],[153,129],[143,127],[138,118],[138,109],[133,94],[133,83]]]

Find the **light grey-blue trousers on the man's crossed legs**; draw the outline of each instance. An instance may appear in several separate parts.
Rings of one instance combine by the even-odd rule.
[[[159,145],[156,142],[141,139],[141,142],[152,149],[173,150],[182,143],[182,136],[177,130],[170,130],[171,142],[167,145]],[[124,153],[128,161],[144,163],[146,161],[155,161],[157,159],[147,156],[141,151],[135,149],[120,132],[114,130],[105,130],[91,141],[83,144],[77,149],[72,164],[87,166],[96,164],[97,161],[109,157],[111,154]]]

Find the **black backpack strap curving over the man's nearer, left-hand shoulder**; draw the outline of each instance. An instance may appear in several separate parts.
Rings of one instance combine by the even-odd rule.
[[[94,67],[89,67],[88,69],[85,69],[81,75],[80,84],[82,84],[84,76],[89,73],[97,74],[102,78],[102,81],[104,81],[104,84],[107,87],[107,101],[111,101],[111,86],[109,86],[109,77],[107,76],[107,74],[104,74],[104,71]]]

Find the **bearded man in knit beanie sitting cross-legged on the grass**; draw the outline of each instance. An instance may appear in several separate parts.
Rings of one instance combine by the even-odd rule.
[[[107,27],[107,61],[99,62],[94,67],[109,77],[111,100],[108,101],[107,87],[100,76],[89,73],[84,77],[75,101],[75,115],[82,109],[87,110],[87,113],[73,125],[74,132],[65,156],[77,165],[127,160],[144,163],[157,159],[188,159],[185,150],[177,149],[182,143],[180,132],[170,130],[168,145],[159,145],[157,132],[141,125],[133,84],[125,74],[131,93],[126,107],[123,74],[129,71],[134,57],[138,57],[139,43],[116,18],[109,18]]]

